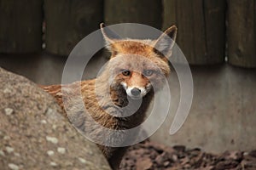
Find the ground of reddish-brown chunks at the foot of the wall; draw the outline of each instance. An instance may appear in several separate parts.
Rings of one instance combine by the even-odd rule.
[[[153,142],[132,146],[120,165],[121,170],[256,170],[256,150],[225,151],[214,155],[183,145],[169,147]]]

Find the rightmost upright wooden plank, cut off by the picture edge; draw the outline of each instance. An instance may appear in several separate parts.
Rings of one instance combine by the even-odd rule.
[[[256,0],[229,0],[228,7],[229,63],[256,67]]]

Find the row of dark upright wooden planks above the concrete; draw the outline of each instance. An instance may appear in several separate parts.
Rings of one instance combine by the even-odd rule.
[[[44,2],[44,9],[43,9]],[[68,55],[105,21],[165,30],[177,25],[177,44],[190,65],[256,67],[256,0],[0,0],[0,53],[38,52],[42,20],[46,51]],[[225,48],[227,53],[225,54]]]

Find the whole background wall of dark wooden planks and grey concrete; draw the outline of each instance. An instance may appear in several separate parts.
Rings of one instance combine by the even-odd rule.
[[[179,101],[173,73],[170,115],[152,140],[213,152],[255,149],[256,0],[0,0],[0,66],[39,84],[60,83],[68,54],[102,21],[177,25],[194,78],[193,105],[171,136]],[[84,78],[96,77],[106,54],[90,60]]]

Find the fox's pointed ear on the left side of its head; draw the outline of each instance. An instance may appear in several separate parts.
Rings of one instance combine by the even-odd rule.
[[[118,34],[113,32],[112,30],[110,30],[108,28],[108,26],[106,27],[104,25],[104,23],[102,23],[100,26],[101,26],[102,35],[103,35],[103,37],[104,37],[104,39],[106,41],[107,48],[108,48],[108,50],[110,52],[113,53],[114,52],[113,42],[115,42],[115,41],[117,41],[117,40],[119,40],[121,38],[119,37]]]

